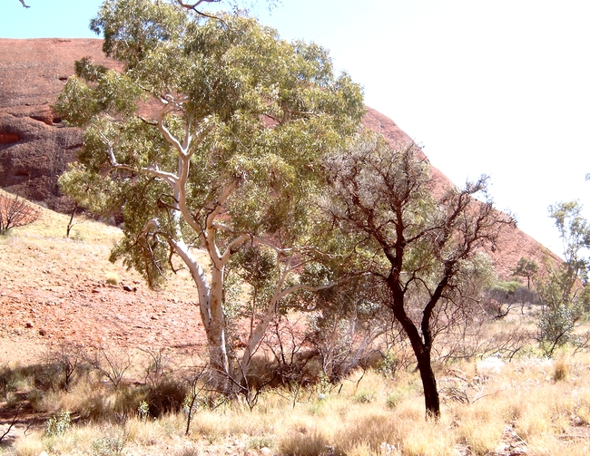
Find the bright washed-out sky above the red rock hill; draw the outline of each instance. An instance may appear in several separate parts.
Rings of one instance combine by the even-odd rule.
[[[590,218],[587,0],[250,0],[286,39],[329,49],[365,102],[456,184],[490,177],[498,209],[556,253],[548,207]],[[0,37],[96,37],[102,0],[0,0]]]

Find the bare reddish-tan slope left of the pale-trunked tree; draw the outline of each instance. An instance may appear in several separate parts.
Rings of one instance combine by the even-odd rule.
[[[0,196],[3,191],[0,190]],[[39,208],[32,225],[0,236],[0,360],[36,361],[46,344],[200,347],[195,289],[182,271],[165,290],[108,261],[119,228]],[[128,291],[125,291],[128,290]]]

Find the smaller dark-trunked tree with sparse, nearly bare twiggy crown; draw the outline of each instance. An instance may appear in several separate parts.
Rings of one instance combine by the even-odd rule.
[[[375,278],[373,300],[391,309],[408,336],[427,417],[438,418],[433,343],[469,318],[492,277],[484,252],[512,219],[487,199],[485,178],[464,189],[433,188],[420,156],[415,145],[392,150],[375,134],[359,136],[326,160],[330,192],[324,208],[356,244],[359,270]]]

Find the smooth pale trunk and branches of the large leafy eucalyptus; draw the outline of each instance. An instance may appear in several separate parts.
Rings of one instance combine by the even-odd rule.
[[[164,106],[158,115],[158,129],[162,132],[163,137],[166,141],[170,142],[175,150],[178,152],[178,169],[176,174],[170,172],[164,172],[153,168],[146,168],[142,171],[147,175],[155,176],[166,182],[172,189],[174,195],[174,202],[172,204],[172,225],[174,227],[172,237],[165,235],[159,231],[158,223],[156,220],[151,220],[146,227],[143,229],[143,234],[161,235],[167,239],[173,248],[174,252],[182,259],[184,265],[191,272],[192,280],[197,286],[199,292],[199,308],[201,312],[202,324],[207,335],[207,341],[209,345],[209,356],[210,363],[213,369],[218,373],[218,382],[221,389],[230,392],[232,389],[244,389],[248,388],[247,375],[251,364],[252,356],[258,350],[259,345],[263,336],[277,313],[280,299],[284,296],[294,293],[300,289],[306,289],[308,291],[318,291],[322,288],[332,286],[333,284],[324,286],[303,286],[295,285],[289,288],[283,289],[286,279],[292,274],[292,272],[300,267],[291,266],[291,260],[293,253],[289,249],[281,249],[269,243],[266,239],[256,238],[245,233],[237,233],[236,237],[233,238],[223,251],[216,242],[216,235],[219,230],[224,232],[232,232],[231,228],[216,223],[216,218],[219,216],[223,204],[230,198],[231,192],[238,187],[238,181],[234,180],[226,188],[221,189],[221,193],[218,199],[213,203],[213,208],[205,219],[205,227],[202,227],[193,218],[191,211],[188,209],[186,201],[186,183],[189,178],[189,172],[191,167],[191,156],[192,150],[198,146],[201,141],[205,138],[207,133],[211,131],[206,121],[203,121],[201,128],[192,134],[189,126],[184,131],[184,138],[182,141],[175,138],[172,133],[166,128],[164,124],[164,118],[166,114],[174,112],[183,101],[174,101],[172,97],[168,96],[162,99]],[[110,160],[114,168],[119,169],[130,169],[125,165],[116,163],[114,158],[113,149],[109,148]],[[202,246],[208,253],[211,262],[211,282],[208,280],[202,266],[198,260],[192,255],[190,248],[187,246],[182,238],[181,222],[185,221],[195,233],[200,233],[199,237],[202,242]],[[251,241],[253,244],[260,243],[267,247],[273,248],[277,251],[277,267],[280,269],[281,261],[285,265],[280,270],[279,280],[276,285],[276,290],[268,306],[265,309],[261,309],[262,318],[255,325],[249,335],[244,352],[241,355],[241,361],[239,364],[239,370],[237,373],[233,372],[233,366],[231,365],[231,359],[229,355],[228,347],[228,334],[227,334],[227,322],[223,312],[223,286],[225,280],[225,268],[231,259],[231,255],[239,247],[241,247],[247,241]],[[285,255],[289,258],[286,262]],[[233,385],[233,386],[232,386]]]

